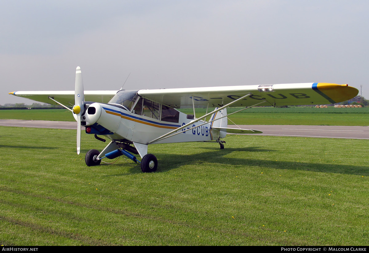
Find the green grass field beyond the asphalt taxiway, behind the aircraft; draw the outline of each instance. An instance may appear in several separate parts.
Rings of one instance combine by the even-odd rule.
[[[235,108],[228,109],[228,113]],[[181,109],[193,114],[192,109]],[[204,115],[206,109],[197,109],[196,116]],[[0,110],[0,119],[33,119],[51,121],[74,121],[68,110]],[[369,107],[364,108],[250,108],[229,117],[238,125],[369,125]]]

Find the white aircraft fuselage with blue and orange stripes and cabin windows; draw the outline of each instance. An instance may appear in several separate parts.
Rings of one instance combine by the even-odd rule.
[[[146,144],[193,121],[193,117],[188,117],[187,114],[174,108],[144,100],[138,96],[131,100],[131,103],[87,105],[86,112],[82,116],[82,125],[90,127],[90,134],[104,135],[113,140],[125,139]],[[214,117],[215,113],[212,118]],[[217,139],[220,133],[212,129],[213,124],[214,122],[194,122],[178,130],[180,134],[154,143],[212,141]]]

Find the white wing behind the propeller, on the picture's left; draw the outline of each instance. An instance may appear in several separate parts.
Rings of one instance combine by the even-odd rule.
[[[85,101],[108,103],[117,93],[116,90],[85,91]],[[56,104],[49,97],[63,105],[74,105],[74,90],[69,91],[14,91],[9,93],[17,97],[25,97],[42,103]]]

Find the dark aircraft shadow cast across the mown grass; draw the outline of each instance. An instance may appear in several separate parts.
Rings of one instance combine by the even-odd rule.
[[[261,149],[258,147],[248,148],[226,148],[219,150],[219,148],[202,148],[210,149],[211,151],[195,153],[191,155],[182,154],[168,154],[168,153],[156,153],[158,160],[160,160],[161,166],[158,168],[156,173],[163,173],[172,169],[177,169],[180,166],[186,164],[214,164],[214,166],[232,165],[232,166],[245,166],[250,167],[261,167],[269,169],[287,169],[287,170],[306,170],[313,172],[324,172],[324,173],[341,173],[341,174],[352,174],[369,176],[369,170],[366,166],[352,166],[347,164],[330,164],[330,163],[308,163],[308,162],[286,162],[276,160],[263,160],[263,159],[250,159],[247,158],[246,152],[275,152],[272,149]],[[246,158],[229,158],[224,157],[232,152],[245,152]],[[122,163],[122,162],[120,162]],[[132,174],[140,173],[139,167],[133,167],[136,164],[130,161],[132,168],[130,169]],[[129,166],[127,164],[127,166]],[[252,168],[251,168],[252,169]],[[234,170],[233,168],[231,170]],[[130,173],[130,174],[131,174]],[[122,176],[111,175],[111,176]]]

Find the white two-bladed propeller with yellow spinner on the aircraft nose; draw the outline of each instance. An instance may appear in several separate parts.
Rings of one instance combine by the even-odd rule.
[[[76,68],[76,83],[74,90],[74,107],[73,112],[77,115],[77,154],[79,155],[81,150],[81,115],[83,114],[85,107],[83,102],[85,101],[85,94],[83,90],[82,72],[81,68]]]

